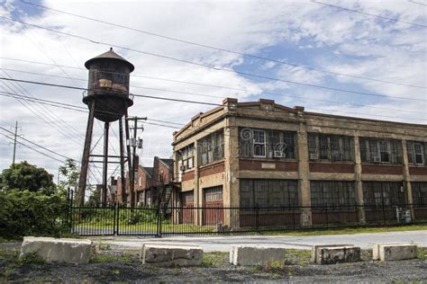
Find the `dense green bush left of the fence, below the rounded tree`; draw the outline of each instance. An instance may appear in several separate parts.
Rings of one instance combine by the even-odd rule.
[[[0,191],[0,236],[60,236],[68,231],[68,202],[61,193]]]

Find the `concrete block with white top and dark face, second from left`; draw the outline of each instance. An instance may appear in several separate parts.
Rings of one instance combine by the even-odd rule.
[[[199,245],[143,244],[142,263],[154,266],[200,266],[203,251]]]

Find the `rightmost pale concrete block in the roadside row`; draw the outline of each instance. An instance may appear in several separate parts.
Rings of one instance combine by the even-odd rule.
[[[374,244],[372,259],[374,261],[403,261],[417,258],[416,244]]]

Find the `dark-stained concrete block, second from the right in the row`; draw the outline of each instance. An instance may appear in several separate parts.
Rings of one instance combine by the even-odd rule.
[[[359,262],[360,248],[358,246],[331,246],[319,249],[320,255],[316,263],[334,264],[342,262]]]

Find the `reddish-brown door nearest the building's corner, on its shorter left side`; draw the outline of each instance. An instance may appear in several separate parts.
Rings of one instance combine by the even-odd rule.
[[[223,224],[223,186],[204,189],[203,224]]]

